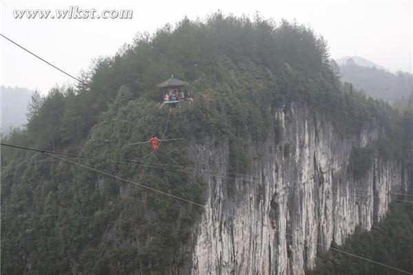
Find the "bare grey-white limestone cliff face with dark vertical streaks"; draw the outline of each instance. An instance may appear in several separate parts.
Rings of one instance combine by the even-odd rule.
[[[372,142],[376,129],[342,138],[324,115],[295,105],[274,120],[281,140],[276,129],[264,144],[251,140],[248,177],[231,184],[204,177],[207,206],[194,228],[191,274],[304,274],[317,251],[343,243],[356,227],[370,230],[394,192],[412,188],[404,164],[379,157],[364,177],[348,173],[352,147]],[[228,144],[207,139],[194,147],[198,168],[226,171]]]

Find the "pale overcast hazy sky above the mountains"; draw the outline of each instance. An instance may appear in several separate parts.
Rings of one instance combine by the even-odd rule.
[[[93,58],[112,55],[137,32],[153,32],[166,23],[174,25],[185,15],[201,19],[221,10],[279,21],[282,18],[310,25],[322,34],[333,58],[354,55],[392,71],[412,72],[412,1],[4,1],[1,34],[79,76]],[[81,9],[133,10],[133,19],[14,19],[13,10]],[[30,54],[0,37],[0,83],[39,89],[70,80]]]

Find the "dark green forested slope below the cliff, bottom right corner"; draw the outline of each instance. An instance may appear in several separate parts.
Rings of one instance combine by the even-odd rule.
[[[358,231],[340,249],[380,263],[413,270],[413,206],[412,203],[396,203],[388,218],[370,232]],[[339,248],[333,245],[333,248]],[[317,267],[309,274],[398,274],[361,259],[351,259],[344,254],[328,252],[317,259]]]

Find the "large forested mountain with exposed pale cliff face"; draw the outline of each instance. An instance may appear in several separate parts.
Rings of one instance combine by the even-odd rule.
[[[193,102],[169,110],[171,74]],[[83,81],[2,141],[93,157],[2,146],[1,274],[299,274],[413,187],[412,112],[342,84],[297,23],[183,19]],[[184,140],[129,145],[152,135]]]

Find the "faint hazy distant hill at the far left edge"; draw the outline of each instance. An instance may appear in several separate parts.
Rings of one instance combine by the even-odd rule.
[[[23,126],[27,122],[25,113],[32,96],[27,88],[1,86],[1,124],[0,132],[6,133],[10,126]]]

